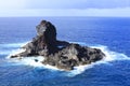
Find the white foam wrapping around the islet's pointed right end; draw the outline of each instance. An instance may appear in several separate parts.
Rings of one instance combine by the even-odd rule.
[[[98,46],[90,46],[90,47],[100,48],[106,55],[104,59],[102,59],[101,61],[93,62],[91,64],[75,67],[75,70],[66,73],[67,76],[75,76],[75,75],[81,74],[87,69],[90,69],[96,64],[103,64],[103,63],[109,64],[110,61],[115,61],[115,60],[130,60],[130,57],[128,57],[127,55],[112,52],[108,49],[107,46],[98,45]]]

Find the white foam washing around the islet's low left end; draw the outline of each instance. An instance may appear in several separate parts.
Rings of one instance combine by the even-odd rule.
[[[10,54],[6,56],[8,61],[15,64],[26,64],[26,66],[39,67],[43,69],[58,70],[55,67],[49,64],[42,64],[41,61],[44,60],[42,56],[10,58],[11,56],[20,54],[22,52],[25,52],[25,49],[18,48],[10,52]]]

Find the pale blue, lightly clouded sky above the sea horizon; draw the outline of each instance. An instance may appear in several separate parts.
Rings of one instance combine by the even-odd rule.
[[[130,0],[0,0],[0,16],[130,17]]]

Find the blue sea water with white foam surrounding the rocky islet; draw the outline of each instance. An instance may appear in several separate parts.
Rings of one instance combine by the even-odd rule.
[[[70,72],[35,63],[36,57],[9,59],[36,37],[41,19],[55,25],[58,40],[99,47],[106,57]],[[130,86],[130,18],[1,17],[0,86]]]

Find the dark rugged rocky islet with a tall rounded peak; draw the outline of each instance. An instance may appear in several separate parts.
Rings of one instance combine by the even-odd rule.
[[[105,56],[98,48],[57,41],[56,29],[50,22],[42,20],[36,29],[37,37],[22,47],[26,51],[11,56],[11,58],[43,56],[43,64],[54,66],[64,70],[73,70],[76,66],[89,64],[101,60]]]

